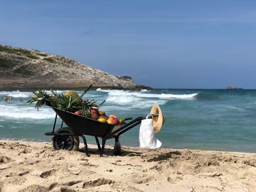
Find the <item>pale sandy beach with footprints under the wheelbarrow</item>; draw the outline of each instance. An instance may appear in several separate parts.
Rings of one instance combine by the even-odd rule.
[[[81,147],[82,145],[80,145]],[[2,191],[256,191],[256,154],[113,146],[99,157],[48,142],[0,141]]]

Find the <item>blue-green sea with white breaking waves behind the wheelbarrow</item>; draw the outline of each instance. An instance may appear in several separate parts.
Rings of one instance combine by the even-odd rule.
[[[59,91],[64,92],[64,91]],[[83,91],[78,91],[79,94]],[[35,109],[28,104],[31,92],[0,91],[0,139],[50,142],[45,136],[53,128],[50,107]],[[12,101],[4,101],[12,96]],[[146,116],[155,103],[165,123],[155,137],[162,147],[256,153],[256,90],[156,89],[88,91],[83,99],[94,99],[107,115],[118,118]],[[58,120],[57,126],[60,126]],[[121,136],[121,145],[139,146],[140,125]],[[90,144],[93,137],[86,136]],[[82,142],[82,140],[80,140]],[[113,145],[113,139],[107,145]]]

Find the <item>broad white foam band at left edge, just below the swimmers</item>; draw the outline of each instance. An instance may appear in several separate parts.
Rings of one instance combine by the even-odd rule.
[[[41,108],[39,111],[37,111],[32,106],[18,107],[17,105],[0,104],[0,117],[42,120],[54,118],[54,112],[50,108]]]

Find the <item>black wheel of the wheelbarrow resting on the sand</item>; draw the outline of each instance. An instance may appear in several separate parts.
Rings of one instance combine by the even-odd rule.
[[[72,134],[72,130],[68,127],[59,128],[56,133],[58,134]],[[53,136],[53,148],[55,150],[78,150],[79,137],[67,135]]]

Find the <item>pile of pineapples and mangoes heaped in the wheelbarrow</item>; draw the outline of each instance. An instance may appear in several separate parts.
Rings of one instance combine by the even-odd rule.
[[[51,91],[48,93],[45,90],[32,91],[34,93],[29,104],[36,103],[37,110],[42,105],[56,107],[60,110],[73,112],[76,115],[82,115],[86,118],[98,120],[101,123],[108,123],[111,125],[118,125],[124,123],[124,119],[118,119],[115,115],[107,116],[105,111],[99,110],[99,106],[94,99],[82,99],[77,92],[67,91],[66,93],[57,93]]]

